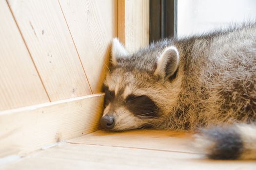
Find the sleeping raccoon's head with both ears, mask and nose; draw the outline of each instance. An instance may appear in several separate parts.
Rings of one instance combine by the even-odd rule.
[[[112,66],[104,81],[104,129],[157,127],[177,102],[177,48],[149,47],[129,54],[113,40]]]

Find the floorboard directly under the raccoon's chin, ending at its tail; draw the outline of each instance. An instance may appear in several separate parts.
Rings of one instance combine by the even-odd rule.
[[[136,130],[122,133],[97,131],[86,136],[70,139],[74,144],[90,144],[129,148],[152,149],[181,153],[198,153],[189,143],[192,134],[166,130]],[[129,139],[129,140],[126,140]]]

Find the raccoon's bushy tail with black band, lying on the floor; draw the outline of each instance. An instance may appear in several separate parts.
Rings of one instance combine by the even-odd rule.
[[[195,146],[210,159],[256,159],[256,124],[203,129]]]

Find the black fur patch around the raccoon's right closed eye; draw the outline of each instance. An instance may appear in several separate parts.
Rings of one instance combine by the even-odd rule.
[[[125,99],[125,107],[135,116],[158,117],[158,106],[148,96],[129,95]]]

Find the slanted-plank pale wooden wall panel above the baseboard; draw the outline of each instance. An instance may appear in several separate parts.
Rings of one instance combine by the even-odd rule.
[[[116,0],[0,0],[0,110],[100,92]]]

